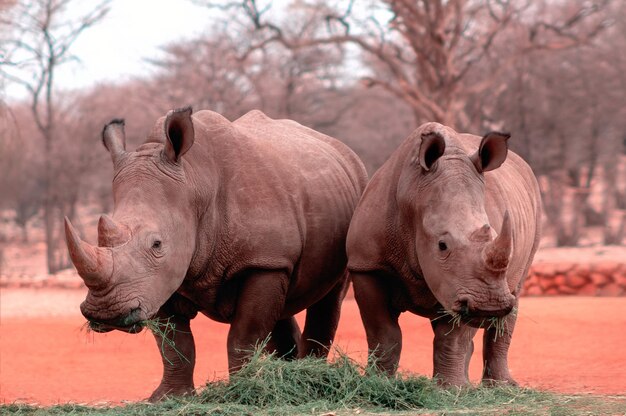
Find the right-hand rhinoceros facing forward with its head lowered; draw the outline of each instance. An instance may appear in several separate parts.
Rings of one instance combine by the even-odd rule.
[[[348,270],[378,367],[393,374],[400,313],[431,320],[433,375],[463,385],[477,328],[483,381],[512,383],[518,297],[539,243],[541,199],[508,134],[417,128],[370,180],[347,238]],[[507,157],[508,155],[508,157]],[[495,238],[494,238],[495,237]]]

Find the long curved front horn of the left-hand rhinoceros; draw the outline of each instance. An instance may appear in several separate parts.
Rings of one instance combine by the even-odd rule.
[[[67,217],[65,217],[65,241],[70,258],[87,287],[104,286],[113,273],[111,251],[104,247],[94,247],[81,240]]]

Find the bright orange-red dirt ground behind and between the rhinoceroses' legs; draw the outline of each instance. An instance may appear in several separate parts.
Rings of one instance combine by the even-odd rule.
[[[0,291],[0,402],[119,403],[146,398],[161,364],[150,334],[87,334],[82,290]],[[626,298],[522,298],[510,353],[523,386],[564,393],[626,393]],[[302,314],[299,316],[302,325]],[[428,320],[403,314],[401,369],[432,371]],[[226,376],[228,326],[198,317],[197,386]],[[354,300],[343,305],[337,344],[362,359],[365,334]],[[481,342],[470,376],[480,378]]]

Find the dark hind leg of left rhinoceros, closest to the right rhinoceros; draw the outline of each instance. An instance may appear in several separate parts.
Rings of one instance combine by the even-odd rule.
[[[346,296],[348,285],[349,280],[344,274],[342,280],[330,292],[307,308],[302,334],[302,351],[299,357],[328,356],[330,345],[337,332],[337,325],[339,325],[341,302]]]

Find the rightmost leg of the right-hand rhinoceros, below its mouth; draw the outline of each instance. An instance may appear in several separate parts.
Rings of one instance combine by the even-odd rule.
[[[483,362],[485,363],[483,383],[517,385],[517,382],[511,377],[508,363],[509,347],[516,321],[517,315],[510,314],[506,317],[502,332],[497,331],[496,328],[485,329],[483,335]]]

